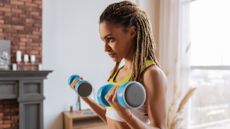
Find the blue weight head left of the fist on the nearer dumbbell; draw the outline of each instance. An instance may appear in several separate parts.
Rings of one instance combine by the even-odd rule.
[[[112,84],[107,84],[98,89],[97,92],[97,100],[102,106],[109,106],[109,103],[105,99],[105,95],[109,92],[109,90],[113,87]]]

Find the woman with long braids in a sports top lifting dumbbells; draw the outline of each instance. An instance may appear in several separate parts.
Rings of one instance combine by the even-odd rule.
[[[105,52],[116,63],[108,82],[114,84],[106,100],[111,108],[103,108],[83,100],[107,123],[109,129],[166,129],[165,74],[154,53],[152,29],[144,11],[130,1],[109,5],[100,16],[99,33]],[[124,66],[119,67],[124,60]],[[119,85],[138,81],[146,90],[146,102],[138,109],[125,109],[116,100]]]

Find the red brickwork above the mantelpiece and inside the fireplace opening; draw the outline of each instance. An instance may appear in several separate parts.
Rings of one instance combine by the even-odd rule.
[[[0,0],[0,39],[11,41],[11,62],[16,51],[42,57],[42,0]],[[30,67],[30,64],[22,64]],[[19,125],[17,100],[0,100],[0,128],[16,129]]]

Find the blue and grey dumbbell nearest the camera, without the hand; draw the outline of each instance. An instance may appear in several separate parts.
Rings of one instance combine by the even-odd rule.
[[[102,86],[97,92],[99,103],[105,107],[109,106],[105,96],[112,87],[114,85],[107,84]],[[116,97],[118,103],[124,108],[139,108],[145,102],[146,92],[141,83],[129,81],[119,86]]]

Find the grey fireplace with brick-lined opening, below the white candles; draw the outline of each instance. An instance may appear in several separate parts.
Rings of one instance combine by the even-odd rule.
[[[0,71],[0,129],[43,129],[43,80],[51,71]]]

